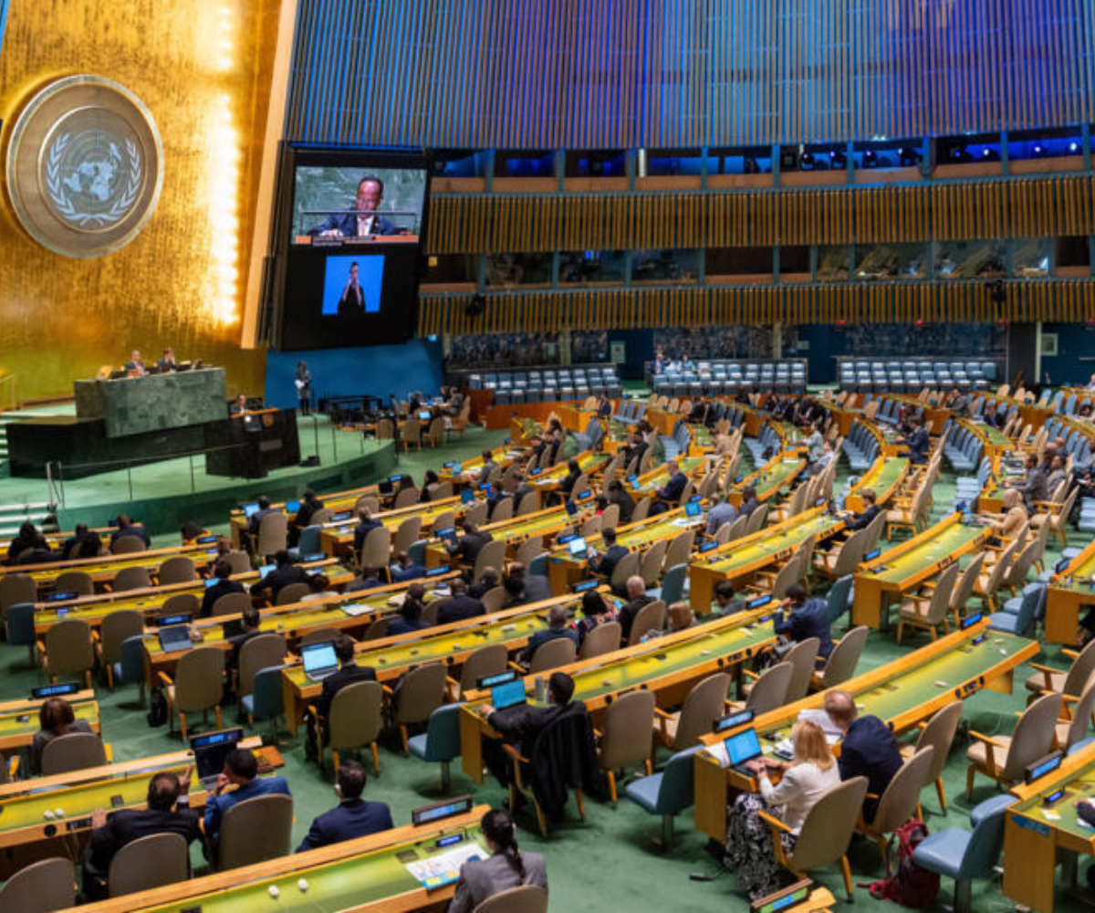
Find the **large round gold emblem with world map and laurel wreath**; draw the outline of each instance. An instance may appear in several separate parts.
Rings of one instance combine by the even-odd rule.
[[[27,103],[8,145],[8,193],[20,224],[66,256],[116,251],[155,210],[163,146],[143,102],[96,76],[51,82]]]

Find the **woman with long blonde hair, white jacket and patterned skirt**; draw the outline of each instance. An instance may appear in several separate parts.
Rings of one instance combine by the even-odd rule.
[[[816,722],[799,720],[791,730],[795,757],[789,764],[760,758],[750,766],[760,786],[759,792],[742,792],[729,808],[724,863],[737,869],[738,886],[750,900],[780,889],[781,867],[772,846],[772,832],[760,812],[779,818],[791,828],[780,838],[786,853],[794,849],[806,815],[826,792],[840,784],[837,760],[829,750],[825,732]],[[770,771],[779,771],[780,783],[772,785]]]

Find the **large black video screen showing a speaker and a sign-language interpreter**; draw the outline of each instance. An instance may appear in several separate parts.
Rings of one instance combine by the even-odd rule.
[[[280,349],[390,345],[412,335],[428,181],[424,156],[289,150]]]

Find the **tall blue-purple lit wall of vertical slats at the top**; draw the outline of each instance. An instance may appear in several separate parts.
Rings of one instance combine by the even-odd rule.
[[[1095,0],[301,0],[287,137],[868,140],[1095,119]]]

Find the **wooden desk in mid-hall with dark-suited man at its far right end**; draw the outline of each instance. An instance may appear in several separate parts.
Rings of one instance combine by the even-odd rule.
[[[737,589],[757,571],[785,562],[809,536],[817,536],[822,543],[843,528],[844,521],[830,516],[825,506],[810,507],[783,523],[704,552],[689,566],[692,610],[699,615],[711,612],[719,581],[729,580]]]

